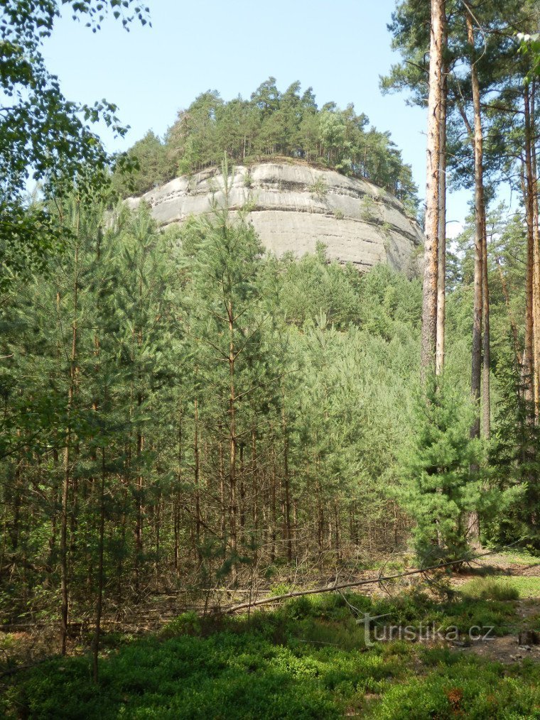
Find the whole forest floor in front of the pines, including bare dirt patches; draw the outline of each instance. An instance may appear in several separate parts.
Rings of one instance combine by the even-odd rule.
[[[379,567],[381,575],[390,574],[387,565]],[[312,580],[325,584],[329,577]],[[99,685],[91,680],[90,634],[83,629],[67,658],[50,657],[45,634],[44,647],[36,652],[39,631],[4,632],[0,714],[224,720],[540,717],[538,560],[504,553],[440,578],[437,586],[406,580],[374,582],[362,586],[361,594],[308,595],[235,616],[202,618],[192,610],[163,622],[170,600],[155,603],[153,614],[145,607],[146,621],[137,631],[121,624],[107,628]],[[270,592],[285,590],[274,583]],[[228,592],[224,603],[242,597]],[[366,613],[384,616],[368,623],[369,632]],[[477,639],[488,628],[489,637]],[[400,629],[412,636],[400,639]],[[32,667],[22,668],[25,664]]]

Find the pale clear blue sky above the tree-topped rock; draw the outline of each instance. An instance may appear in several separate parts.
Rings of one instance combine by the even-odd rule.
[[[45,47],[68,98],[107,98],[120,107],[131,130],[124,143],[104,135],[110,149],[127,148],[150,128],[163,135],[207,89],[224,99],[248,97],[274,76],[282,90],[295,80],[312,86],[319,104],[354,102],[377,129],[390,130],[423,197],[426,112],[379,91],[379,75],[398,60],[387,31],[395,0],[147,2],[153,27],[125,32],[110,18],[94,34],[66,13]],[[468,198],[450,197],[449,220],[463,220]]]

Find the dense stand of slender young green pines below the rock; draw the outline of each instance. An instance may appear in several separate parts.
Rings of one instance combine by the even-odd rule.
[[[339,536],[299,533],[291,554],[363,542],[359,513],[373,528],[384,518],[410,431],[418,282],[384,267],[360,276],[322,246],[300,260],[264,256],[226,205],[164,233],[144,204],[105,207],[60,203],[63,254],[4,304],[9,616],[54,613],[42,588],[58,587],[66,450],[74,615],[94,600],[100,500],[85,493],[103,472],[107,603],[168,573],[194,587],[255,563],[279,575],[285,482],[289,523],[294,512],[312,527],[320,513],[323,528],[330,512],[341,525]],[[30,478],[37,495],[24,495]],[[389,528],[401,519],[391,507]]]

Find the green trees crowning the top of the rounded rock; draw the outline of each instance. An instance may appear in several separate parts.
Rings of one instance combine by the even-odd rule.
[[[207,91],[179,112],[163,145],[152,133],[133,145],[128,154],[139,170],[131,184],[120,175],[115,185],[125,195],[140,194],[176,174],[219,165],[223,153],[242,164],[285,157],[368,179],[395,194],[415,215],[418,198],[410,166],[403,163],[390,133],[368,130],[368,123],[352,104],[344,110],[335,103],[319,109],[312,89],[301,93],[300,82],[281,92],[275,78],[269,78],[251,99],[230,102]],[[310,192],[323,200],[327,189],[320,182]]]

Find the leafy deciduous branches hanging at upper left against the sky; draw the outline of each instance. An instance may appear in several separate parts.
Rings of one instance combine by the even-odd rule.
[[[63,5],[73,19],[86,19],[95,32],[109,12],[124,27],[148,22],[148,8],[136,0],[68,2],[7,0],[0,8],[0,287],[24,269],[43,268],[57,243],[58,217],[48,207],[27,212],[25,186],[32,174],[45,194],[65,194],[76,184],[92,193],[107,181],[109,157],[91,123],[102,120],[115,135],[125,135],[117,107],[66,99],[58,78],[45,65],[42,46]],[[126,166],[125,159],[122,165]]]

